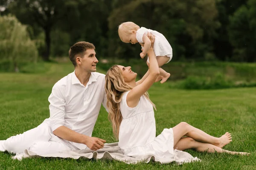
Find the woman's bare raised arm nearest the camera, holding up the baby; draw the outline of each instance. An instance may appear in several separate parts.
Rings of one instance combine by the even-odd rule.
[[[127,95],[126,102],[127,105],[131,108],[134,108],[138,105],[140,97],[148,91],[148,89],[153,85],[157,77],[159,76],[159,67],[157,63],[157,58],[154,54],[153,46],[154,46],[154,35],[151,35],[151,47],[148,50],[148,58],[149,58],[149,75],[148,77],[140,84],[134,87]]]

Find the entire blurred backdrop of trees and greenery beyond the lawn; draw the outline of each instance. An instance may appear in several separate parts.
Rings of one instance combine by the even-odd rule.
[[[141,77],[148,68],[140,45],[118,37],[126,21],[171,44],[169,86],[256,86],[256,0],[1,0],[0,71],[44,72],[44,63],[69,62],[70,46],[87,41],[103,72],[118,63]]]

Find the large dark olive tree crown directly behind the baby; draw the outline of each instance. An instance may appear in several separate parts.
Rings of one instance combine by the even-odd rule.
[[[122,2],[124,3],[124,2]],[[118,16],[118,17],[116,17]],[[172,45],[177,57],[204,57],[211,51],[212,36],[218,28],[215,0],[132,0],[113,9],[109,16],[111,42],[109,54],[137,56],[140,48],[122,43],[117,26],[133,21],[139,26],[159,31]]]

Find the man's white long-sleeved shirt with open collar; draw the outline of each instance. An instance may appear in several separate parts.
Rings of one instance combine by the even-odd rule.
[[[65,126],[78,133],[91,136],[101,104],[106,108],[105,75],[90,74],[87,85],[81,84],[75,71],[60,79],[49,96],[50,118],[46,119],[52,131]],[[52,136],[51,141],[65,143],[74,149],[85,149],[85,144],[69,142]]]

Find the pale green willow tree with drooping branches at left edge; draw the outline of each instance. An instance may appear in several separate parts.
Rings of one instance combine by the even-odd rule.
[[[19,71],[21,62],[36,62],[38,51],[35,42],[30,40],[26,26],[16,17],[0,16],[0,30],[0,69]],[[7,63],[9,67],[6,67]]]

